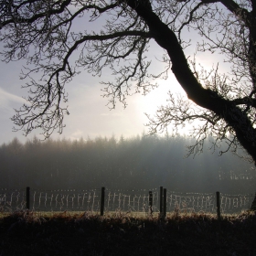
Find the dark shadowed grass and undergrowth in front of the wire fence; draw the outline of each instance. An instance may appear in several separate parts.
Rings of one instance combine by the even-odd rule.
[[[16,212],[0,218],[0,255],[256,255],[256,214],[100,217]]]

